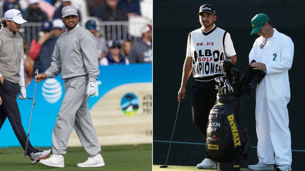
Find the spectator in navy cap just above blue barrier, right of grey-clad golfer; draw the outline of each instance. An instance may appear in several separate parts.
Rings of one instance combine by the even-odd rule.
[[[110,40],[108,42],[109,53],[106,58],[108,64],[129,64],[128,59],[126,59],[121,52],[121,44],[119,40]]]

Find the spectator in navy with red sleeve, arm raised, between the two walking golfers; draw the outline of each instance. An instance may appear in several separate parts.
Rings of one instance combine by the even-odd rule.
[[[45,71],[51,66],[52,54],[58,37],[54,35],[52,22],[44,21],[41,31],[42,35],[31,41],[30,57],[34,60],[34,69]]]

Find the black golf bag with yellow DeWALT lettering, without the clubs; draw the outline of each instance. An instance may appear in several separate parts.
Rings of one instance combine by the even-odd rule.
[[[239,171],[252,143],[241,124],[242,94],[236,90],[217,94],[210,111],[206,133],[206,151],[217,161],[221,171]]]

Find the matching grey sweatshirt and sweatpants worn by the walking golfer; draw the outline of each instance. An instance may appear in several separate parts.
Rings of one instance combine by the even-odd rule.
[[[45,71],[48,78],[56,77],[61,72],[62,79],[65,79],[66,93],[52,133],[54,154],[66,154],[73,126],[90,157],[101,151],[86,95],[88,82],[95,82],[99,76],[96,42],[88,30],[77,24],[58,38],[51,67]]]

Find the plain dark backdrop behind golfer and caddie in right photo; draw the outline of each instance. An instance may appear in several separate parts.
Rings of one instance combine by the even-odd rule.
[[[294,59],[289,70],[291,99],[288,104],[289,128],[292,145],[292,169],[304,170],[305,133],[303,99],[305,95],[304,1],[153,1],[153,164],[164,165],[167,157],[174,121],[178,107],[177,93],[181,84],[183,63],[186,54],[188,33],[201,27],[197,16],[203,4],[214,6],[217,14],[216,26],[231,35],[237,54],[237,68],[241,74],[249,64],[249,52],[258,35],[250,35],[251,19],[265,13],[279,32],[289,36],[294,43]],[[191,75],[192,77],[192,75]],[[173,141],[205,143],[205,138],[192,122],[191,84],[187,84],[186,99],[179,113]],[[242,124],[248,129],[253,146],[257,146],[255,127],[255,91],[252,96],[243,96]],[[267,126],[267,125],[266,125]],[[283,139],[285,141],[285,139]],[[300,151],[297,151],[300,150]],[[196,166],[204,159],[205,145],[173,143],[168,165]],[[242,167],[257,164],[257,151],[252,148],[248,160]]]

